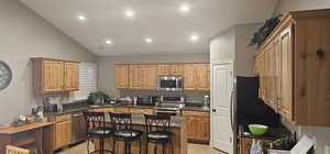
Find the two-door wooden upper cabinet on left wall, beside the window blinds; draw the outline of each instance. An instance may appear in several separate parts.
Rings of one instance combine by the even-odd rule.
[[[33,80],[41,94],[79,90],[79,63],[33,58]]]

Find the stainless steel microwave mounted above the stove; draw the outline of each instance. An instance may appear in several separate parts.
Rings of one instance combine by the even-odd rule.
[[[182,91],[184,77],[182,76],[160,76],[158,90],[161,91]]]

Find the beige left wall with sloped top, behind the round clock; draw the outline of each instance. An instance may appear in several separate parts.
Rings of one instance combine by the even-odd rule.
[[[19,0],[0,0],[0,61],[13,73],[10,86],[0,91],[0,123],[31,112],[40,100],[32,88],[31,57],[52,57],[80,62],[96,62],[88,53]]]

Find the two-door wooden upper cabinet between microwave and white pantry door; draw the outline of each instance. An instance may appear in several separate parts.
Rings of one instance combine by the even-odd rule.
[[[210,90],[210,65],[186,64],[184,81],[185,90]]]

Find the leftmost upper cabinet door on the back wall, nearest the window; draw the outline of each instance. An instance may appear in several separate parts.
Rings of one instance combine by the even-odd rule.
[[[118,89],[127,89],[130,85],[130,66],[129,65],[116,65],[116,85]]]

